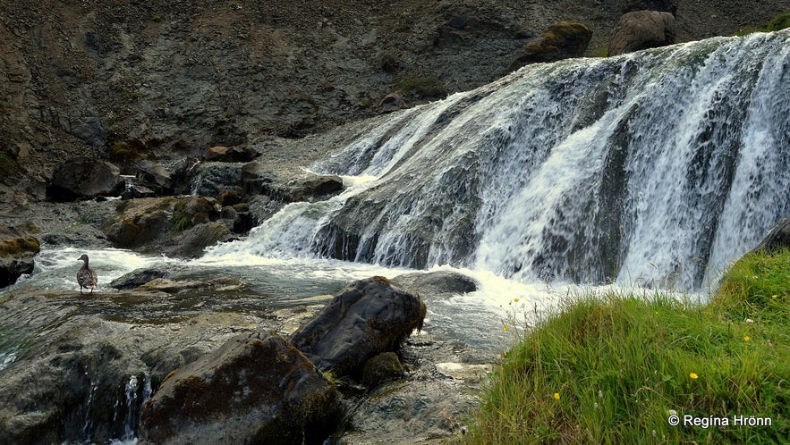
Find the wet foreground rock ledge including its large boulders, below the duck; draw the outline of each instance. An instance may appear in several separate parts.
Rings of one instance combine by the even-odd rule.
[[[426,315],[418,289],[441,298],[473,286],[438,275],[404,276],[395,281],[403,288],[373,277],[283,306],[232,277],[178,270],[135,271],[115,282],[127,289],[88,297],[6,291],[0,443],[395,443],[459,434],[490,358],[413,335]]]

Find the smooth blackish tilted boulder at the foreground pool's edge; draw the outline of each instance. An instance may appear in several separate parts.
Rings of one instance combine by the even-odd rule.
[[[373,277],[347,286],[290,341],[322,371],[360,377],[365,362],[400,348],[425,314],[420,296]]]

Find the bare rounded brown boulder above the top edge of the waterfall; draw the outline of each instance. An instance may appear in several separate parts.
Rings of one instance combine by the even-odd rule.
[[[608,55],[673,45],[677,36],[675,16],[658,11],[626,13],[617,21],[609,39]]]

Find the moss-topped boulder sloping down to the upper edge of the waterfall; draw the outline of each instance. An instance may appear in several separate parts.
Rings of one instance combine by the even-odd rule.
[[[583,23],[563,21],[549,25],[535,41],[524,46],[521,54],[510,65],[515,71],[529,63],[556,62],[571,57],[582,57],[590,44],[592,31]]]

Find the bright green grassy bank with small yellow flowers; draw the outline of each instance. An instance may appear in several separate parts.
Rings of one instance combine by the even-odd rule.
[[[680,424],[670,424],[670,416]],[[784,443],[788,437],[785,250],[745,256],[704,306],[658,292],[567,304],[505,355],[465,440]]]

